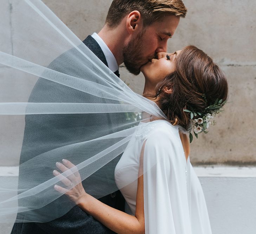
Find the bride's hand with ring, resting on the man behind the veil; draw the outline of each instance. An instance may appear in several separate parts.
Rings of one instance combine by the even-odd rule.
[[[87,195],[82,185],[80,174],[77,170],[77,167],[73,163],[66,159],[63,159],[62,161],[63,164],[60,162],[56,162],[56,166],[58,167],[58,169],[61,172],[66,172],[70,170],[71,174],[68,176],[64,176],[63,174],[54,170],[53,175],[59,176],[60,181],[69,189],[63,188],[59,185],[54,185],[54,189],[60,193],[65,193],[65,195],[67,195],[70,198],[70,200],[72,200],[76,204],[79,204],[81,200],[86,198]]]

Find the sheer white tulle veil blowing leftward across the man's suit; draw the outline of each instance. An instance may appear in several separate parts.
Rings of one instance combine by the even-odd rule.
[[[110,194],[117,187],[106,174],[139,121],[166,117],[40,0],[1,2],[11,17],[0,15],[0,166],[19,165],[20,176],[0,180],[0,222],[17,212],[16,222],[47,222],[74,206],[53,188],[55,162],[77,165],[93,196]]]

